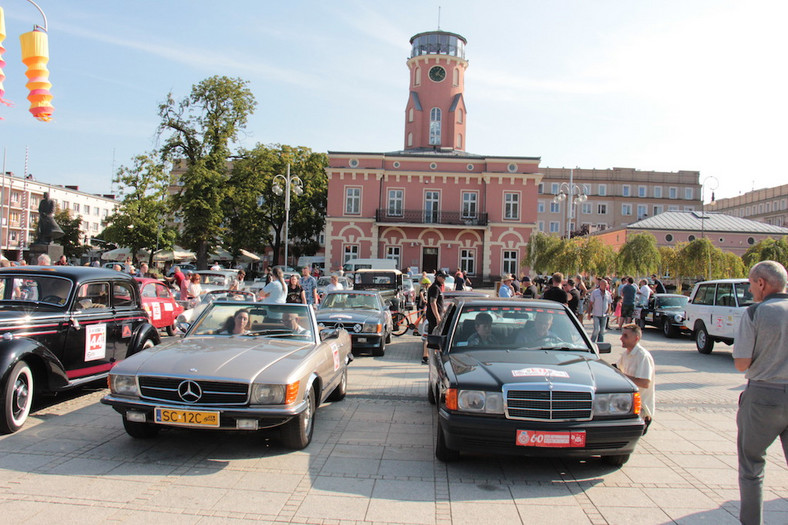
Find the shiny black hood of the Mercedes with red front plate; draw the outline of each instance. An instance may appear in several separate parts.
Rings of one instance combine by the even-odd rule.
[[[451,367],[462,388],[498,390],[506,383],[565,383],[598,391],[632,391],[634,385],[618,370],[592,354],[569,351],[474,350],[452,353]]]

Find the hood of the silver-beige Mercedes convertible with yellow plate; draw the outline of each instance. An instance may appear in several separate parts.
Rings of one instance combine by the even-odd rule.
[[[192,336],[135,354],[112,373],[252,381],[269,369],[293,368],[292,360],[301,362],[313,346],[292,339]]]

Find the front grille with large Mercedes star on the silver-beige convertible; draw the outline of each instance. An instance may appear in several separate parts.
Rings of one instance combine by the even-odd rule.
[[[199,399],[186,401],[181,397],[178,388],[184,381],[193,381],[199,386],[201,394]],[[249,385],[247,383],[189,380],[180,377],[141,376],[139,385],[142,397],[169,403],[245,405],[249,398]],[[194,390],[196,389],[192,389],[192,391]]]

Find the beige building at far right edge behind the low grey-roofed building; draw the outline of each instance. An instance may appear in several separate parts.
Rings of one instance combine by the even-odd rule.
[[[788,184],[720,199],[707,204],[706,209],[773,226],[786,226],[788,225]]]

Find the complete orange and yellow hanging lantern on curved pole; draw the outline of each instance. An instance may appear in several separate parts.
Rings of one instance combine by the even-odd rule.
[[[52,112],[55,108],[52,107],[52,93],[49,88],[52,84],[49,82],[49,70],[47,70],[47,62],[49,62],[49,43],[47,34],[40,27],[36,27],[29,33],[24,33],[19,36],[19,41],[22,44],[22,62],[27,66],[27,84],[26,87],[30,91],[27,100],[30,101],[30,113],[35,118],[43,122],[52,120]]]

